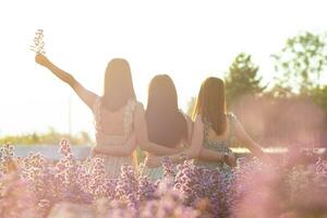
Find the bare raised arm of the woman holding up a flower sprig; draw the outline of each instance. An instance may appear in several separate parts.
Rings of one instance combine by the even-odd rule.
[[[55,65],[47,57],[44,55],[36,55],[35,62],[50,70],[57,77],[59,77],[64,83],[69,84],[77,94],[77,96],[85,102],[88,108],[93,108],[97,95],[84,88],[71,74],[64,72]]]

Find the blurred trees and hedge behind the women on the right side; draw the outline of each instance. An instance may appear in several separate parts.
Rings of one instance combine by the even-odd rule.
[[[228,110],[264,145],[326,146],[327,33],[287,39],[271,61],[274,78],[265,83],[250,53],[234,58],[225,76]],[[189,114],[194,104],[192,98]]]

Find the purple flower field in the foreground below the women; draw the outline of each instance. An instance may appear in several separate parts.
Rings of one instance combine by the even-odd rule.
[[[101,159],[77,160],[64,140],[59,154],[58,161],[39,153],[16,158],[13,146],[1,147],[0,217],[327,216],[327,161],[320,158],[307,166],[288,155],[276,166],[239,158],[232,173],[193,160],[174,170],[166,158],[165,179],[152,182],[131,166],[110,180]]]

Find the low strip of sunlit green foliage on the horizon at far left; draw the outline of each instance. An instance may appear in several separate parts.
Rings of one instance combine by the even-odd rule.
[[[92,140],[86,132],[76,135],[59,133],[49,129],[47,133],[28,133],[22,135],[8,135],[0,138],[0,145],[11,143],[14,145],[57,145],[61,138],[66,138],[72,145],[89,145]]]

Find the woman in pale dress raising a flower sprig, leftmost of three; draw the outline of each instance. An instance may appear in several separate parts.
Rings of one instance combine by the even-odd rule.
[[[177,149],[148,142],[144,109],[142,104],[136,101],[126,60],[112,59],[108,63],[102,96],[84,88],[71,74],[59,69],[44,55],[36,55],[35,61],[69,84],[93,111],[97,144],[93,154],[105,159],[108,177],[118,178],[124,164],[135,165],[133,153],[136,144],[144,150],[157,154],[177,153]]]

